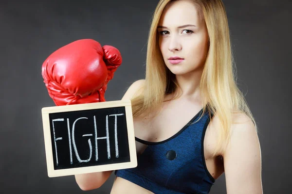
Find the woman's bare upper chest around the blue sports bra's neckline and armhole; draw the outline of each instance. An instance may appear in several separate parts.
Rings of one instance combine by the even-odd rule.
[[[163,104],[162,110],[155,116],[134,118],[135,136],[148,142],[162,142],[176,135],[194,118],[202,107],[198,103],[180,102]],[[212,119],[213,120],[213,119]],[[215,149],[216,126],[210,121],[204,135],[204,155],[210,158]],[[147,145],[136,142],[137,153],[141,154]],[[210,157],[209,157],[210,156]]]

